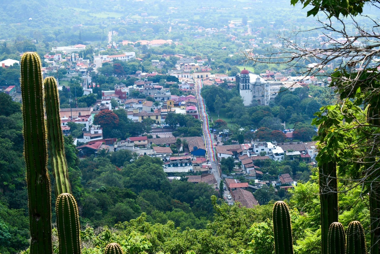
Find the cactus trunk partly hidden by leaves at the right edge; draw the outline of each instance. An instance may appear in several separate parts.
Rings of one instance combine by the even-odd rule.
[[[380,103],[373,103],[368,106],[367,109],[367,122],[374,126],[380,126]],[[372,167],[376,163],[376,158],[379,156],[379,147],[370,149],[370,152],[366,159],[368,167]],[[374,167],[377,168],[377,167]],[[370,177],[368,178],[369,188],[369,210],[371,217],[371,254],[380,253],[380,173],[378,170],[374,172],[368,172]]]

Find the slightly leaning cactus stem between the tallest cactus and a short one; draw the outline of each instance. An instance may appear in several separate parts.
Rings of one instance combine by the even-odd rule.
[[[71,193],[68,180],[68,167],[59,116],[57,82],[53,77],[44,80],[47,137],[50,152],[50,164],[55,178],[55,195]]]

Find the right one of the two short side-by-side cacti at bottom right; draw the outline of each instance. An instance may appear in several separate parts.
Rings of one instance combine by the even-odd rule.
[[[367,254],[364,229],[359,221],[348,224],[346,254]]]

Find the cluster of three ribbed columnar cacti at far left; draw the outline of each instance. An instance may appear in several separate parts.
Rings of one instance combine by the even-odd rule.
[[[21,59],[21,90],[24,155],[27,167],[30,234],[32,237],[31,254],[52,253],[51,189],[46,169],[48,159],[46,137],[49,139],[50,161],[55,177],[56,194],[71,192],[60,128],[57,83],[54,78],[47,78],[44,86],[45,96],[40,58],[34,52],[25,53]],[[44,102],[46,111],[43,106]],[[80,253],[78,208],[71,194],[64,193],[57,198],[57,225],[60,253]]]

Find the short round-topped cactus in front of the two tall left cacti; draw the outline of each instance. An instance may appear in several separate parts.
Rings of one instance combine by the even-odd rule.
[[[55,204],[60,254],[80,254],[79,214],[74,196],[62,193]]]

